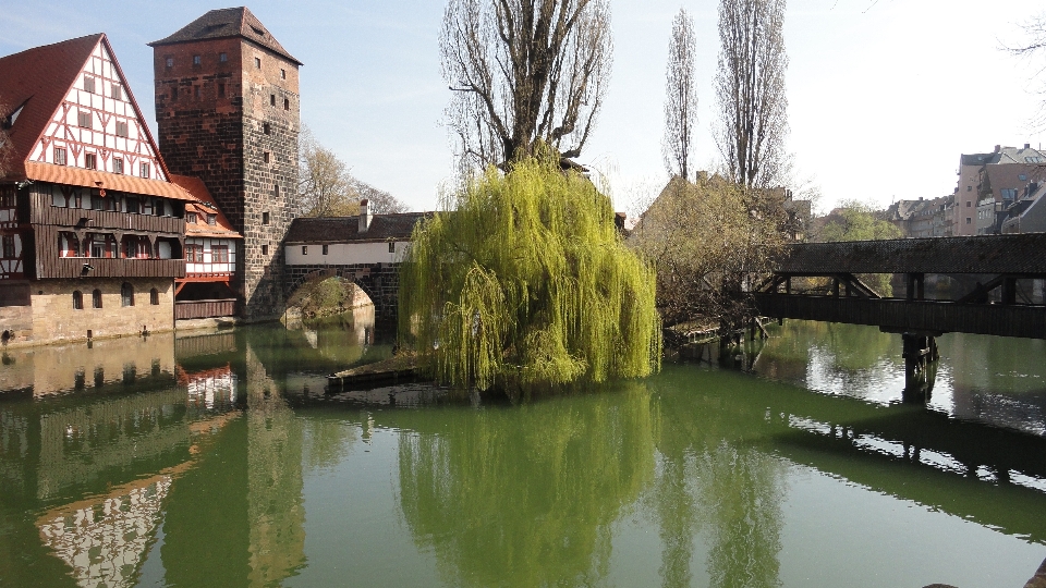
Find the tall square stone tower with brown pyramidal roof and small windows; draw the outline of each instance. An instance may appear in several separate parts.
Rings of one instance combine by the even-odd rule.
[[[203,180],[244,237],[233,282],[241,315],[279,315],[302,63],[246,8],[212,10],[149,46],[160,152],[172,173]]]

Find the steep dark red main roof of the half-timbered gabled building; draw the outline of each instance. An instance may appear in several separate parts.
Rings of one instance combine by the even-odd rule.
[[[162,167],[163,173],[169,175],[167,164],[163,163],[163,158],[159,155],[160,150],[157,148],[156,142],[153,140],[153,134],[149,132],[148,125],[145,124],[145,118],[142,115],[142,110],[126,84],[127,78],[123,75],[123,70],[120,68],[120,62],[117,61],[117,54],[112,50],[112,46],[109,45],[109,39],[105,33],[97,33],[62,42],[34,47],[0,58],[0,117],[7,118],[22,107],[14,125],[8,130],[8,136],[14,146],[13,169],[8,174],[9,179],[44,180],[44,177],[29,177],[28,167],[25,166],[27,159],[32,155],[33,146],[47,131],[51,117],[62,105],[73,84],[80,78],[84,64],[87,63],[92,51],[99,42],[105,45],[106,50],[112,57],[117,73],[124,81],[127,100],[134,108],[138,120],[142,121],[142,128],[153,147],[153,152],[157,154],[157,160]],[[81,171],[90,173],[90,170]],[[127,177],[105,172],[93,173]],[[74,183],[73,185],[83,184]],[[153,192],[142,192],[141,194],[162,196],[162,194]]]

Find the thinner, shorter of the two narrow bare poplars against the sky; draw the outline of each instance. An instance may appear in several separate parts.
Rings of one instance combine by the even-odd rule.
[[[690,146],[694,127],[697,126],[697,87],[694,84],[696,52],[694,20],[684,9],[679,9],[672,21],[672,40],[668,44],[661,154],[668,174],[684,180],[690,179]]]

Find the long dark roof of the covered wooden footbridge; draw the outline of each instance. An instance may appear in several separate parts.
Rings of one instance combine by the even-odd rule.
[[[1046,275],[1046,233],[800,243],[779,273],[1013,273]]]

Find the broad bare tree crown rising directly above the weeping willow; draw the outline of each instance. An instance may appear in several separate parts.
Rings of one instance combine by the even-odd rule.
[[[465,166],[503,166],[538,143],[581,154],[610,74],[608,0],[448,0],[439,48]]]

